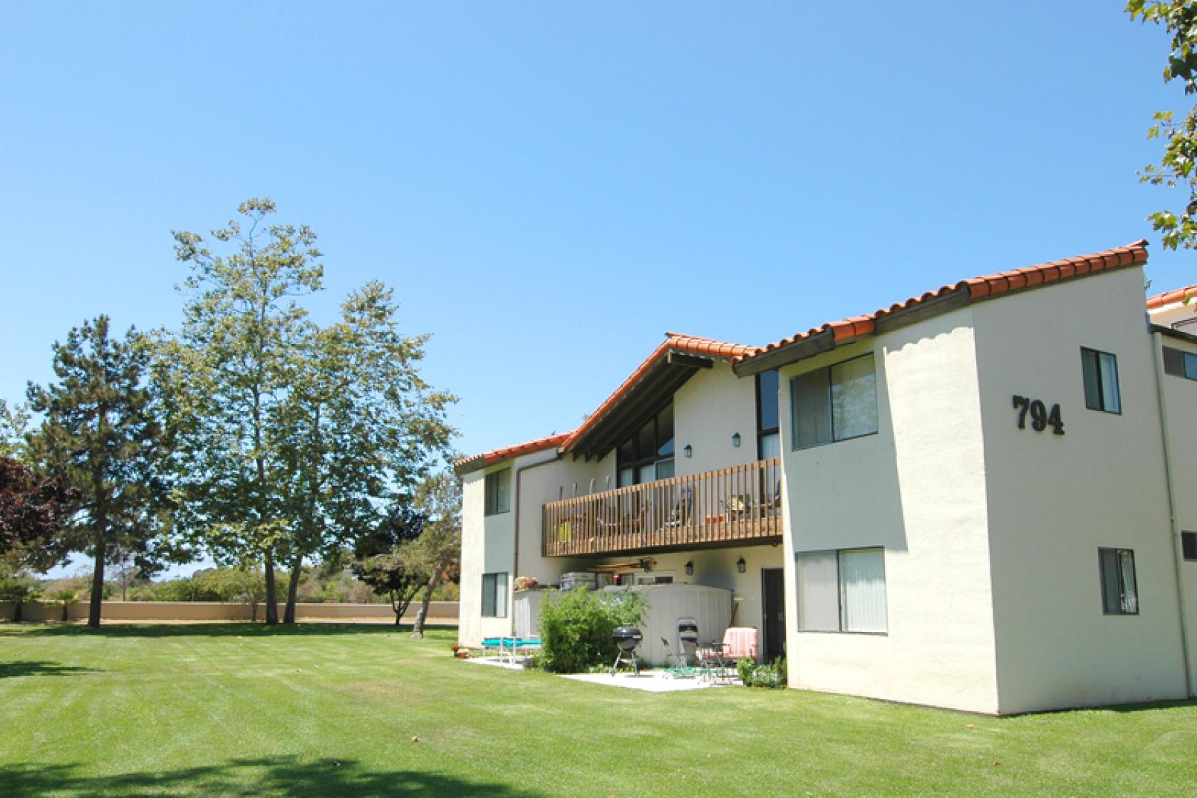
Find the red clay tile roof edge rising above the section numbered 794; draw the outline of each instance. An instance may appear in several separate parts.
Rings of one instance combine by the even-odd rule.
[[[797,343],[798,341],[819,335],[820,333],[826,333],[827,330],[832,330],[837,343],[869,335],[874,331],[874,322],[879,318],[892,316],[899,311],[909,310],[931,299],[958,291],[967,290],[970,299],[983,299],[985,297],[995,297],[1011,291],[1078,278],[1096,272],[1108,272],[1111,269],[1143,263],[1146,261],[1147,242],[1137,240],[1134,244],[1107,249],[1102,252],[1094,252],[1093,255],[1081,255],[1078,257],[1070,257],[1063,261],[1027,266],[1010,272],[998,272],[997,274],[973,278],[972,280],[961,280],[955,285],[941,286],[936,291],[929,291],[920,297],[911,297],[905,301],[897,303],[889,307],[882,307],[865,316],[852,316],[851,318],[844,318],[838,322],[827,322],[821,327],[813,327],[806,333],[796,333],[790,337],[774,341],[773,343],[754,349],[748,354],[734,357],[731,363],[733,365],[740,364],[755,355],[772,352],[773,349],[780,349],[782,347]]]

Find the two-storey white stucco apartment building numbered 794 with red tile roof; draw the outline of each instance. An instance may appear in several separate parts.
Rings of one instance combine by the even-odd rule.
[[[1197,292],[1144,306],[1146,261],[766,347],[668,335],[578,430],[457,464],[462,641],[512,632],[516,575],[590,568],[731,590],[796,688],[1002,714],[1195,695]]]

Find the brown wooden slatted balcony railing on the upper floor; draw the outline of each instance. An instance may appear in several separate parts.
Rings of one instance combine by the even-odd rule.
[[[780,536],[778,458],[545,505],[545,556],[710,548]]]

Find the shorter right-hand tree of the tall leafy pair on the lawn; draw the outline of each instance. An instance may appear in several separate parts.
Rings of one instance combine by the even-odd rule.
[[[396,328],[393,292],[366,284],[341,305],[341,321],[312,329],[282,406],[281,432],[294,620],[303,558],[353,548],[387,508],[406,500],[446,447],[444,409],[454,401],[420,377],[426,335]]]

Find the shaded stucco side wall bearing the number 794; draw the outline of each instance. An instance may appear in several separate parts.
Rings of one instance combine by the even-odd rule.
[[[982,303],[973,316],[1001,711],[1184,695],[1142,269]],[[1120,415],[1086,409],[1082,346],[1117,355]],[[1015,394],[1059,403],[1064,434],[1029,419],[1019,430]],[[1104,615],[1099,547],[1134,549],[1138,615]]]

